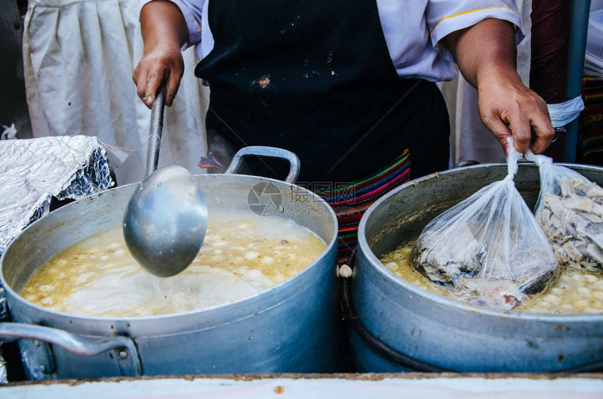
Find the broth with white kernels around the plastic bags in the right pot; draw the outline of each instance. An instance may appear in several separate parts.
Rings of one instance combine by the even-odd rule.
[[[416,240],[403,243],[379,260],[393,273],[420,288],[463,302],[473,301],[473,297],[448,290],[416,271],[410,259],[415,243]],[[513,310],[533,313],[603,312],[603,275],[562,267],[560,275],[541,295],[524,301]]]

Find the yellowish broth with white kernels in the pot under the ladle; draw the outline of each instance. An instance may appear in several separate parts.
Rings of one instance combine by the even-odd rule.
[[[20,295],[56,311],[132,317],[197,311],[256,295],[314,262],[327,245],[291,219],[213,212],[201,251],[169,278],[144,271],[121,224],[60,252]]]

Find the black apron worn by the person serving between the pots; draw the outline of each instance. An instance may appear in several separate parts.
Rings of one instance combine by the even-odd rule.
[[[293,151],[299,182],[354,182],[405,149],[413,178],[447,169],[443,97],[400,79],[375,0],[210,0],[208,23],[215,46],[195,70],[210,82],[208,135]]]

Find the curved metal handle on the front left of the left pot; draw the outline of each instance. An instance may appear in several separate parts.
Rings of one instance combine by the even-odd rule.
[[[105,351],[115,351],[122,375],[141,375],[142,365],[134,341],[123,335],[107,339],[87,339],[65,330],[27,323],[0,323],[0,341],[36,339],[55,344],[81,356],[94,356]]]

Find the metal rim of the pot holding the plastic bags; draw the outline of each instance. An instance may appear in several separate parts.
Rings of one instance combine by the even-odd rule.
[[[593,165],[581,165],[581,164],[574,164],[574,163],[560,163],[560,164],[564,165],[564,166],[569,166],[569,167],[577,167],[576,169],[594,170],[594,171],[603,172],[603,168],[599,168],[599,167],[596,167]],[[411,180],[410,182],[402,184],[400,187],[393,189],[388,194],[379,198],[379,200],[375,201],[370,206],[370,208],[367,209],[367,211],[363,215],[362,219],[360,219],[360,224],[358,225],[358,246],[360,247],[359,249],[360,249],[361,253],[366,257],[366,259],[367,259],[368,263],[370,264],[370,266],[372,267],[372,269],[374,269],[374,271],[376,271],[381,278],[384,278],[384,280],[386,280],[388,283],[390,283],[391,285],[397,286],[401,290],[411,292],[412,295],[417,295],[419,297],[422,297],[423,299],[426,299],[431,302],[435,302],[442,306],[452,307],[452,308],[456,309],[456,311],[460,311],[460,312],[464,312],[464,313],[477,313],[477,314],[480,314],[483,316],[489,316],[489,317],[494,317],[494,318],[536,320],[541,323],[542,322],[547,322],[547,323],[589,322],[589,323],[592,323],[593,321],[602,322],[603,321],[603,313],[580,313],[580,314],[578,314],[578,313],[569,313],[569,314],[562,313],[561,314],[561,313],[534,313],[534,312],[527,312],[527,311],[495,311],[495,310],[488,309],[485,307],[472,306],[470,304],[463,303],[456,299],[447,298],[447,297],[444,297],[443,295],[437,294],[435,292],[428,291],[424,288],[419,287],[418,285],[414,285],[413,283],[411,283],[411,282],[405,280],[404,278],[393,273],[393,271],[388,269],[388,267],[385,266],[383,263],[381,263],[381,261],[379,261],[377,256],[374,255],[374,252],[372,252],[370,245],[366,238],[367,221],[372,216],[374,210],[377,210],[377,208],[379,208],[381,206],[386,206],[386,203],[388,201],[391,201],[392,198],[394,198],[400,191],[402,191],[403,189],[405,189],[407,187],[411,187],[411,186],[416,187],[417,185],[421,184],[422,182],[425,182],[427,180],[431,180],[434,178],[442,177],[442,175],[446,176],[446,175],[450,175],[450,174],[462,173],[462,170],[480,169],[480,168],[484,168],[485,166],[488,166],[488,167],[494,166],[494,167],[500,167],[500,168],[507,167],[506,163],[484,163],[481,165],[470,165],[470,166],[464,166],[461,168],[454,168],[454,169],[449,169],[449,170],[445,170],[442,172],[432,173],[431,175],[419,177],[419,179]],[[524,167],[524,166],[537,168],[537,166],[534,165],[533,163],[520,163],[520,167]]]

